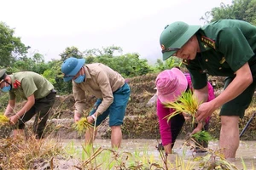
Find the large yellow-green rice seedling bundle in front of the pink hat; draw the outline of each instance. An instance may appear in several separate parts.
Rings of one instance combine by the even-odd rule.
[[[192,94],[191,90],[189,90],[188,92],[183,92],[176,101],[169,102],[164,105],[167,108],[171,108],[174,110],[174,112],[165,117],[168,121],[170,121],[173,116],[176,116],[180,113],[186,113],[192,117],[192,126],[195,123],[195,114],[199,106],[199,102],[195,98],[195,95]]]

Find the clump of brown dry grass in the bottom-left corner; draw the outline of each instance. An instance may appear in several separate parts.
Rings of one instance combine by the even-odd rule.
[[[31,169],[37,161],[51,160],[61,155],[61,145],[44,139],[1,139],[0,168]]]

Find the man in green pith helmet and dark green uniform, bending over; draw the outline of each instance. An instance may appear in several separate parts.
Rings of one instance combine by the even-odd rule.
[[[239,118],[250,105],[256,88],[256,26],[241,20],[218,20],[207,26],[177,21],[160,35],[163,59],[183,59],[202,103],[196,119],[202,122],[221,107],[220,148],[235,158],[239,146]],[[227,77],[224,91],[207,100],[207,74]]]

